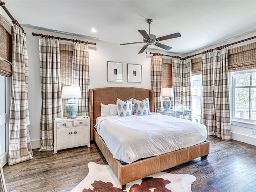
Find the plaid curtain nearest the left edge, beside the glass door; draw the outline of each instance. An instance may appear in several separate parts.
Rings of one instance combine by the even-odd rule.
[[[8,164],[32,159],[28,112],[28,50],[26,34],[12,26],[12,101],[10,108]]]

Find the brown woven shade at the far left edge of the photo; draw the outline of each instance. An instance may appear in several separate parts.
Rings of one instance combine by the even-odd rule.
[[[12,62],[12,26],[0,14],[0,57]],[[0,60],[0,75],[12,76],[10,63]]]

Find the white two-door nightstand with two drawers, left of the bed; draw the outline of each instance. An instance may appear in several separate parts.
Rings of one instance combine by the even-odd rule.
[[[54,120],[54,154],[57,150],[85,145],[90,147],[90,118],[88,116]]]

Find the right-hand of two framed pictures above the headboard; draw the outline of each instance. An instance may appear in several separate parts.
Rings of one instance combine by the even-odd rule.
[[[141,66],[139,64],[127,64],[127,82],[141,83]]]

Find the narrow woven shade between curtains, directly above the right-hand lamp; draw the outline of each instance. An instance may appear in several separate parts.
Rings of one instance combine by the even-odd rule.
[[[163,59],[162,60],[162,88],[171,88],[172,87],[172,60]]]

